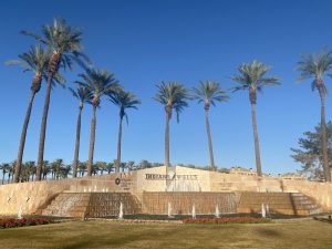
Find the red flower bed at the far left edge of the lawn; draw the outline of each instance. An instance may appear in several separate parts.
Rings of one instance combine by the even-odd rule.
[[[0,228],[12,228],[12,227],[24,227],[24,226],[35,226],[44,224],[53,224],[52,218],[3,218],[0,219]]]

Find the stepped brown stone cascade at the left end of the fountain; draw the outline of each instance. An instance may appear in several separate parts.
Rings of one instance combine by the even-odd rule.
[[[141,212],[139,201],[129,193],[62,193],[42,210],[42,215],[80,218],[117,216],[121,203],[124,214]]]

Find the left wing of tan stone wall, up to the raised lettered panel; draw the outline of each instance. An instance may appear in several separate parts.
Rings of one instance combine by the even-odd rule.
[[[0,186],[0,215],[38,214],[62,191],[128,191],[136,190],[133,184],[136,173],[80,177],[65,180],[43,180],[35,183],[8,184]],[[115,184],[121,178],[121,184]],[[129,179],[129,180],[127,180]]]

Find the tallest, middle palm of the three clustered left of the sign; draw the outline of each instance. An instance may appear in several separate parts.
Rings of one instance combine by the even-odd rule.
[[[95,143],[95,127],[96,127],[96,107],[100,106],[101,97],[112,92],[117,91],[121,86],[118,82],[114,79],[114,74],[105,70],[94,70],[89,69],[85,73],[79,75],[82,81],[76,81],[76,83],[85,86],[91,91],[93,98],[92,104],[92,121],[91,121],[91,132],[90,132],[90,149],[89,149],[89,160],[87,160],[87,175],[92,175],[93,165],[93,153]]]

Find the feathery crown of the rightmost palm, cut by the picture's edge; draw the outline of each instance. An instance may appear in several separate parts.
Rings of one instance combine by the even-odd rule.
[[[332,51],[323,49],[318,55],[314,53],[301,54],[297,70],[301,72],[298,81],[313,79],[311,89],[315,90],[318,82],[323,84],[324,74],[332,76]],[[326,92],[324,84],[323,90]]]

